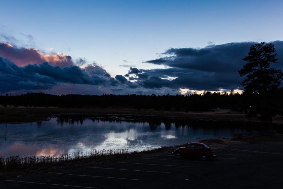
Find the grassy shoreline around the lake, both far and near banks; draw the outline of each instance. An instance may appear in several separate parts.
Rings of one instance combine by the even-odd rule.
[[[100,109],[100,108],[81,108],[81,109],[70,109],[70,108],[0,108],[0,123],[28,123],[28,122],[41,122],[49,120],[48,118],[54,116],[54,115],[104,115],[103,117],[111,117],[111,116],[120,116],[120,117],[132,117],[132,119],[136,119],[137,117],[140,117],[141,119],[144,119],[145,117],[159,117],[160,119],[169,118],[169,119],[185,119],[187,120],[194,120],[194,121],[203,121],[206,120],[210,123],[212,123],[212,120],[220,120],[220,121],[228,121],[228,122],[248,122],[252,121],[255,123],[259,123],[258,119],[247,119],[245,117],[245,114],[240,113],[234,113],[230,112],[228,109],[226,110],[219,110],[214,109],[213,112],[181,112],[181,111],[155,111],[155,110],[136,110],[136,109],[119,109],[119,108],[108,108],[108,109]],[[107,116],[105,116],[107,115]],[[115,117],[117,118],[117,117]],[[282,119],[280,117],[276,118],[276,121],[274,121],[275,124],[279,124],[279,126],[282,125]],[[262,137],[261,137],[262,138]],[[234,144],[244,144],[249,145],[249,142],[252,143],[258,143],[258,142],[264,142],[269,141],[270,139],[267,137],[263,141],[259,141],[258,138],[253,141],[245,141],[245,140],[231,140],[231,138],[221,139],[220,143],[217,142],[211,142],[211,141],[204,141],[203,143],[206,143],[210,146],[212,149],[220,149],[220,148],[227,148],[228,146],[234,145]],[[272,139],[271,141],[273,141]],[[283,136],[280,135],[276,139],[276,141],[283,141]],[[185,144],[181,144],[180,146],[183,146]],[[126,158],[136,158],[136,157],[151,157],[156,156],[160,154],[170,154],[175,148],[178,148],[178,146],[175,147],[163,147],[163,148],[157,148],[153,150],[148,151],[142,151],[132,154],[122,154],[122,155],[113,155],[109,157],[96,157],[92,159],[79,159],[74,160],[70,162],[64,162],[62,164],[58,165],[52,165],[50,167],[44,167],[44,168],[37,168],[37,169],[31,169],[26,171],[15,171],[15,172],[0,172],[0,180],[3,180],[5,178],[9,177],[15,177],[19,174],[21,175],[30,175],[30,174],[36,174],[39,172],[49,172],[53,170],[58,170],[62,168],[74,168],[74,167],[82,167],[85,165],[97,165],[97,164],[105,164],[121,159]]]

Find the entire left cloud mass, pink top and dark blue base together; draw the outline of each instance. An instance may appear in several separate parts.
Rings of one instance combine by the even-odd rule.
[[[0,93],[103,94],[119,86],[119,80],[95,63],[79,67],[85,63],[82,58],[74,63],[68,55],[0,43]]]

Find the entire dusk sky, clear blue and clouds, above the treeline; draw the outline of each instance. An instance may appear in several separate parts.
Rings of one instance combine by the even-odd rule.
[[[275,45],[281,0],[0,0],[0,95],[242,90],[249,47]]]

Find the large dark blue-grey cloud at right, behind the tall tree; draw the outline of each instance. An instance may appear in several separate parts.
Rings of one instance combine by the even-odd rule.
[[[279,58],[279,64],[271,66],[282,70],[283,41],[271,43],[274,44]],[[240,83],[244,78],[240,77],[237,71],[246,63],[242,58],[248,55],[249,48],[253,44],[255,42],[210,45],[202,49],[171,48],[163,53],[169,55],[168,57],[146,61],[169,68],[152,70],[132,68],[128,74],[134,74],[135,80],[138,80],[137,84],[148,89],[162,87],[171,90],[187,88],[209,91],[243,89]],[[140,73],[145,77],[141,77]]]

